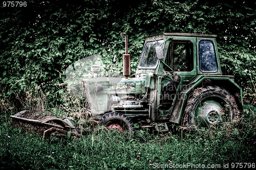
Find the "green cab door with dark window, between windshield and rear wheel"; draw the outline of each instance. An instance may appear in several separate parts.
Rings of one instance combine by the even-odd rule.
[[[195,37],[173,37],[165,49],[163,75],[158,77],[157,119],[172,115],[180,90],[197,75]]]

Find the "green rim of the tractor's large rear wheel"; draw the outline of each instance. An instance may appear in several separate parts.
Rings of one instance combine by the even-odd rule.
[[[196,106],[194,122],[200,126],[207,126],[219,122],[224,117],[231,120],[229,103],[218,95],[211,95],[203,98]]]

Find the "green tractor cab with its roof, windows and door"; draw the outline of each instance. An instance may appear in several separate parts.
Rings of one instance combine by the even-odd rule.
[[[200,75],[222,75],[216,37],[189,33],[146,37],[136,77],[144,77],[145,87],[151,90],[150,101],[157,113],[153,120],[180,122],[181,104],[187,100],[183,91]]]

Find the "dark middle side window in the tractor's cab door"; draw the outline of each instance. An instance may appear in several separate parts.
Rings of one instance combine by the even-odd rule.
[[[172,41],[169,43],[165,63],[175,71],[193,70],[193,43],[191,41]],[[166,71],[171,71],[164,66]]]

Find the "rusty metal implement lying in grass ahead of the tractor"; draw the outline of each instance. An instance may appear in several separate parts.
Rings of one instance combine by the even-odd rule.
[[[42,115],[42,113],[36,112],[35,114],[37,114],[37,116],[29,118],[27,113],[29,113],[29,111],[23,110],[11,115],[11,117],[19,122],[26,122],[32,125],[33,129],[36,130],[38,134],[42,135],[43,138],[47,136],[66,137],[68,133],[70,133],[71,137],[81,136],[68,117],[61,118],[52,114]]]

